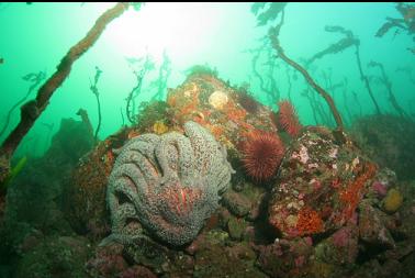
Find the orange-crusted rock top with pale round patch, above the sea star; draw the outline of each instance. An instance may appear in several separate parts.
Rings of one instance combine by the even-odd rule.
[[[191,120],[209,129],[228,149],[237,148],[246,133],[253,130],[276,132],[270,118],[271,109],[253,101],[256,110],[250,113],[242,101],[245,92],[234,88],[209,71],[197,71],[167,96],[171,122],[182,125]]]

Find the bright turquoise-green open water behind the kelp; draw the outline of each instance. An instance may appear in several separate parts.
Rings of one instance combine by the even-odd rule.
[[[4,62],[0,68],[3,91],[0,110],[4,111],[1,115],[3,119],[32,85],[22,80],[22,77],[40,71],[51,75],[68,48],[86,34],[98,15],[109,7],[111,3],[2,3],[0,23],[3,38],[0,49]],[[414,99],[408,88],[413,88],[413,84],[407,74],[396,69],[411,68],[415,62],[413,54],[406,51],[412,38],[404,34],[389,34],[382,38],[374,36],[386,16],[399,16],[393,3],[292,3],[287,10],[290,18],[281,32],[281,42],[290,56],[296,59],[310,58],[341,37],[340,34],[325,32],[326,25],[345,26],[361,40],[360,52],[367,75],[373,78],[380,76],[377,68],[367,67],[367,64],[371,60],[382,63],[393,81],[393,90],[401,105],[411,111]],[[218,71],[221,78],[233,85],[248,82],[259,101],[274,107],[277,99],[261,91],[259,80],[253,74],[254,55],[249,52],[263,44],[260,40],[267,35],[270,24],[257,26],[250,3],[148,3],[139,13],[133,10],[125,12],[106,27],[93,51],[86,53],[75,65],[70,77],[51,100],[55,104],[42,114],[19,151],[25,147],[33,155],[42,155],[51,141],[44,124],[54,124],[53,132],[56,132],[60,119],[75,116],[79,108],[87,109],[92,124],[98,124],[96,99],[89,90],[96,66],[103,71],[99,82],[102,109],[100,138],[116,131],[122,125],[120,109],[125,109],[125,99],[135,86],[135,77],[126,58],[149,55],[155,63],[155,68],[143,80],[137,99],[139,103],[155,94],[156,88],[150,90],[149,87],[157,80],[164,52],[171,68],[168,88],[180,85],[186,78],[186,70],[193,65],[208,64]],[[271,49],[261,52],[257,62],[260,74],[269,74],[269,67],[263,64],[272,55]],[[281,60],[274,63],[276,68],[271,74],[278,84],[280,98],[288,97],[290,78],[290,91],[301,120],[304,124],[314,123],[311,105],[301,94],[306,88],[303,78]],[[359,109],[352,107],[351,94],[355,92],[362,105],[361,113],[373,112],[351,47],[318,59],[312,67],[315,79],[323,85],[324,75],[333,85],[343,84],[347,78],[347,103],[344,103],[343,94],[347,93],[343,92],[344,87],[333,92],[340,110],[349,105],[350,113],[360,113]],[[372,86],[382,110],[393,112],[384,86],[379,82]],[[34,91],[32,98],[33,94]],[[18,120],[19,113],[14,111],[7,132],[0,138],[4,138]],[[25,143],[30,138],[33,141]]]

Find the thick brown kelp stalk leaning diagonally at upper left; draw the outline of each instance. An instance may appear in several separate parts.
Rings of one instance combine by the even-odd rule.
[[[87,35],[64,56],[57,66],[57,70],[38,89],[36,98],[21,107],[21,120],[18,126],[9,134],[0,147],[0,182],[9,176],[10,158],[15,148],[46,109],[53,93],[69,76],[72,64],[98,41],[106,25],[123,14],[131,5],[138,10],[141,3],[116,3],[113,8],[103,12]]]

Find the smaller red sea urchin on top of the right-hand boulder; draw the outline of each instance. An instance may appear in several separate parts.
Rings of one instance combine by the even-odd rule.
[[[278,123],[292,137],[296,137],[302,129],[299,116],[290,101],[278,102]]]

